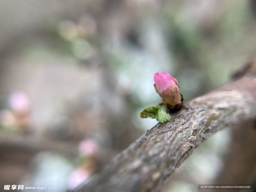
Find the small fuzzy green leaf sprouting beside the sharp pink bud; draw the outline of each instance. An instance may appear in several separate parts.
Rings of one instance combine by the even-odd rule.
[[[141,112],[141,118],[156,119],[160,123],[165,123],[171,120],[171,116],[167,114],[168,108],[165,105],[157,105],[148,107]]]

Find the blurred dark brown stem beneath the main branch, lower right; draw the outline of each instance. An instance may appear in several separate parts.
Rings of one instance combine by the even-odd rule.
[[[236,128],[233,130],[232,144],[225,158],[225,169],[214,181],[214,184],[248,185],[253,184],[256,177],[255,122],[246,122],[242,127]],[[223,191],[231,192],[237,190]]]

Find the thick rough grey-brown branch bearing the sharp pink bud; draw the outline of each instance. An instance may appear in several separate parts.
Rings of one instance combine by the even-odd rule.
[[[74,191],[159,191],[205,139],[225,127],[254,121],[255,68],[250,63],[246,76],[239,73],[240,79],[185,103],[170,122],[158,123]]]

